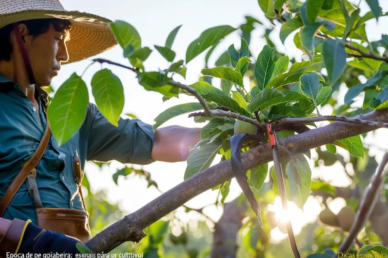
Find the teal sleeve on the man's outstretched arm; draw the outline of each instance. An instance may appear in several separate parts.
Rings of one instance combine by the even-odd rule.
[[[153,162],[151,151],[155,134],[150,124],[138,119],[120,118],[116,127],[96,105],[89,104],[82,127],[87,140],[87,160],[117,160],[139,165]]]

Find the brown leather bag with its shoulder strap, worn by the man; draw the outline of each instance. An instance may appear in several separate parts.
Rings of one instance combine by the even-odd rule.
[[[45,110],[46,111],[46,110]],[[36,216],[38,227],[48,229],[54,232],[64,233],[68,236],[78,238],[81,242],[86,243],[90,240],[89,213],[86,212],[86,206],[81,192],[81,164],[78,155],[74,157],[75,181],[82,199],[82,205],[85,211],[65,208],[44,208],[40,201],[38,188],[35,182],[35,167],[40,161],[49,143],[51,130],[47,122],[45,133],[32,157],[23,165],[20,172],[16,175],[14,181],[4,193],[0,201],[0,217],[4,215],[5,210],[15,197],[17,191],[28,178],[29,191],[34,199],[36,207]],[[78,165],[77,165],[78,163]],[[76,166],[77,165],[77,166]]]

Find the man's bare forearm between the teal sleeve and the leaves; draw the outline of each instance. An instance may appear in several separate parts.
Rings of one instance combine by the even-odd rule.
[[[178,125],[158,128],[155,130],[151,158],[165,162],[185,161],[200,140],[201,128],[187,128]]]

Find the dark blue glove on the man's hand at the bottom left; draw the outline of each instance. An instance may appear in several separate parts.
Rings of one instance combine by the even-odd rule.
[[[66,236],[62,233],[44,230],[29,223],[17,253],[65,253],[75,255],[91,254],[92,251],[76,238]]]

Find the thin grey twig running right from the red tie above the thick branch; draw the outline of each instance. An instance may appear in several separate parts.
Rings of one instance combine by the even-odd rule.
[[[307,117],[307,118],[281,118],[278,121],[275,121],[274,126],[279,126],[279,125],[289,124],[289,123],[309,123],[309,122],[319,122],[319,121],[341,121],[341,122],[365,124],[365,125],[370,125],[370,126],[388,128],[388,123],[374,122],[374,121],[368,121],[368,120],[362,120],[362,119],[358,119],[358,118],[351,118],[351,117],[344,117],[344,116],[337,116],[337,115]]]

